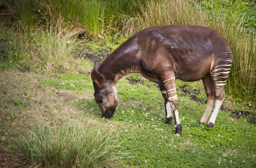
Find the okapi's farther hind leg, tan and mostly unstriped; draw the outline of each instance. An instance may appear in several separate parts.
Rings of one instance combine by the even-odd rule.
[[[215,94],[214,94],[214,84],[211,76],[207,75],[202,79],[202,81],[204,83],[204,90],[207,95],[207,106],[200,120],[200,124],[206,124],[209,118],[209,115],[212,111],[212,107],[214,107],[214,104],[215,104]]]

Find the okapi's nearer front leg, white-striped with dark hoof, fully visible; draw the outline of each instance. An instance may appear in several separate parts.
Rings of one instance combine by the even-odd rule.
[[[163,86],[165,87],[169,103],[172,107],[175,122],[175,136],[181,136],[181,124],[179,118],[179,112],[177,108],[178,99],[176,93],[176,82],[175,82],[175,72],[168,71],[162,76]]]

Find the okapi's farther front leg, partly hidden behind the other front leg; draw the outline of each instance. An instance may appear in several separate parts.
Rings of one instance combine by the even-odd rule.
[[[166,124],[171,125],[172,123],[172,110],[171,110],[171,106],[170,106],[170,102],[168,100],[167,97],[167,92],[165,87],[163,86],[163,84],[159,84],[163,99],[164,99],[164,107],[166,110]]]

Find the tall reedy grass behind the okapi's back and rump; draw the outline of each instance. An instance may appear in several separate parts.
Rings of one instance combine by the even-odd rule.
[[[226,84],[227,96],[256,106],[256,43],[243,21],[226,19],[225,14],[201,11],[201,4],[181,0],[146,0],[137,16],[140,29],[158,25],[201,25],[217,30],[233,52],[233,65]]]

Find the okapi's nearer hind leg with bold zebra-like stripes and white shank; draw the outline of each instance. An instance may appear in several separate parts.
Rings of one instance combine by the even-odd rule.
[[[215,119],[225,98],[224,87],[232,65],[232,52],[229,46],[222,46],[222,50],[218,53],[218,56],[219,57],[215,59],[214,67],[210,72],[214,83],[215,107],[212,111],[212,116],[207,123],[207,127],[214,126]]]

